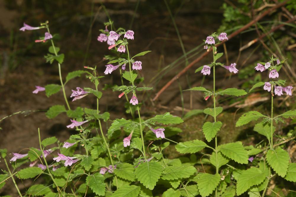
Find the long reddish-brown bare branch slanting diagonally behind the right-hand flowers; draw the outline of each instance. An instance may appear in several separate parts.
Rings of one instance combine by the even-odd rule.
[[[265,12],[263,12],[261,15],[257,16],[254,20],[252,20],[251,22],[249,22],[247,25],[245,25],[244,27],[240,28],[239,30],[233,32],[229,37],[228,40],[230,40],[231,38],[233,38],[234,36],[238,35],[240,32],[248,29],[249,27],[251,27],[255,22],[259,21],[260,19],[262,19],[264,16],[266,16],[267,14],[269,14],[271,11],[273,11],[274,9],[277,9],[281,6],[284,6],[287,3],[287,1],[284,1],[280,4],[277,4],[276,6],[266,10]],[[221,43],[217,44],[216,46],[220,46],[221,44],[223,44],[226,40],[223,40]],[[210,49],[210,51],[212,51],[212,48]],[[203,53],[200,57],[198,57],[197,59],[195,59],[194,61],[192,61],[188,66],[186,66],[182,71],[180,71],[176,76],[173,77],[173,79],[171,79],[167,84],[165,84],[164,87],[162,87],[160,89],[160,91],[158,91],[155,95],[155,97],[153,98],[153,101],[155,101],[164,91],[165,89],[167,89],[174,81],[176,81],[181,75],[183,75],[186,71],[188,71],[194,64],[196,64],[197,62],[199,62],[202,58],[204,58],[205,56],[207,56],[207,54],[210,53],[210,51],[206,51],[205,53]]]

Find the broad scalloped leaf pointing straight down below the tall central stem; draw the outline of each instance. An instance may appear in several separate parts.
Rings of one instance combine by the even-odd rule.
[[[161,168],[162,166],[159,162],[144,162],[136,168],[136,178],[146,188],[153,190],[154,186],[156,185],[156,182],[162,174]]]

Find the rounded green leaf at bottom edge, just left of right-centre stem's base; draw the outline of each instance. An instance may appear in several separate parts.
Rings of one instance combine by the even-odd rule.
[[[219,185],[220,183],[220,175],[219,174],[202,174],[200,178],[197,180],[197,187],[202,197],[209,196]]]

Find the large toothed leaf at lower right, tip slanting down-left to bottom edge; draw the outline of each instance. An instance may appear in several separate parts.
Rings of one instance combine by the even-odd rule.
[[[265,173],[258,168],[252,167],[244,170],[237,180],[237,195],[243,194],[253,185],[259,185],[265,179]]]

